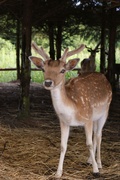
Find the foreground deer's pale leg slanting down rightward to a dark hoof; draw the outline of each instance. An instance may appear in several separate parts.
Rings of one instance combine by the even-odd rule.
[[[85,125],[86,144],[88,146],[90,157],[92,160],[93,173],[99,173],[98,166],[95,160],[95,153],[92,142],[92,133],[93,133],[93,122],[89,122]]]

